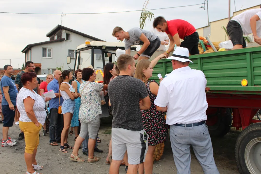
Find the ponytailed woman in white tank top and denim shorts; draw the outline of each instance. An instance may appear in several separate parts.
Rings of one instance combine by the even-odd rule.
[[[73,92],[72,85],[69,81],[73,79],[73,75],[69,70],[64,70],[62,76],[59,79],[60,93],[63,98],[62,114],[63,114],[63,130],[61,134],[61,146],[59,151],[62,153],[68,153],[66,149],[73,149],[72,146],[67,144],[68,131],[73,117],[74,99],[78,98],[77,93]]]

